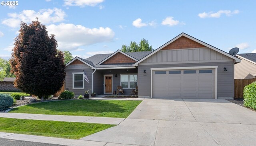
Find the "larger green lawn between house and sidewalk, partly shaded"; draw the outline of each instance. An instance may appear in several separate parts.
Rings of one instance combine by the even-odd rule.
[[[10,113],[127,118],[141,101],[62,100],[16,107]]]

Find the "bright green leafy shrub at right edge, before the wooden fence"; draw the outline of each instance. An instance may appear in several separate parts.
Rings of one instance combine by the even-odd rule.
[[[244,106],[256,109],[256,82],[244,87]]]

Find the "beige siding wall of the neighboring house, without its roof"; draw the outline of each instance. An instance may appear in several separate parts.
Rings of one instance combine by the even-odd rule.
[[[256,76],[256,64],[241,58],[241,62],[235,64],[235,79],[251,79]]]

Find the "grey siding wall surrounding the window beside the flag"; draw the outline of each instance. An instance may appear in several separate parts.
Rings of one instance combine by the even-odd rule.
[[[84,80],[84,89],[73,89],[73,73],[83,72],[83,69],[90,81],[88,83]],[[69,91],[74,92],[76,97],[79,95],[84,95],[84,90],[92,88],[92,72],[93,72],[92,68],[86,64],[68,65],[66,67],[66,78],[65,78],[66,89],[68,88]]]

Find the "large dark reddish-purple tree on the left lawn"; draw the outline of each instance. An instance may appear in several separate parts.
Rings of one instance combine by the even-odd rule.
[[[11,57],[14,86],[23,92],[41,97],[59,91],[66,76],[64,57],[57,50],[55,35],[48,35],[39,21],[20,24],[20,34],[14,39]]]

